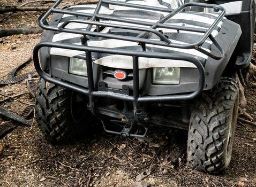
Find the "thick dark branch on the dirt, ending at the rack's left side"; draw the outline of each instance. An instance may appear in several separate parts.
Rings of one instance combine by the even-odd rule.
[[[14,35],[14,34],[42,33],[42,31],[43,30],[39,27],[0,29],[0,38],[4,37],[4,36],[11,36],[11,35]]]

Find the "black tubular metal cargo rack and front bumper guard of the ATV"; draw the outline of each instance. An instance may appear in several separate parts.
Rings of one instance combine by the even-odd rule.
[[[84,35],[84,41],[87,40],[87,36],[97,36],[97,37],[105,37],[105,38],[112,38],[117,39],[121,41],[132,41],[137,42],[140,45],[146,45],[146,44],[153,44],[153,45],[161,45],[161,46],[169,46],[172,48],[180,48],[180,49],[196,49],[202,53],[207,54],[207,56],[212,57],[214,59],[220,59],[223,57],[223,50],[221,46],[216,42],[215,38],[211,35],[215,27],[219,24],[220,21],[222,21],[225,9],[222,6],[219,5],[213,5],[213,4],[202,4],[202,3],[186,3],[182,6],[179,6],[177,9],[167,9],[167,8],[161,8],[161,7],[154,7],[154,6],[144,6],[144,5],[138,5],[138,4],[131,4],[131,3],[123,3],[118,1],[110,1],[110,0],[100,0],[99,3],[96,6],[94,13],[82,13],[82,12],[76,12],[76,11],[69,11],[69,10],[60,10],[57,9],[57,6],[62,2],[62,0],[58,0],[52,7],[44,13],[39,18],[39,25],[43,29],[46,30],[53,30],[55,32],[66,32],[66,33],[74,33],[74,34],[81,34]],[[109,5],[118,5],[118,6],[129,6],[134,7],[137,9],[143,9],[143,10],[152,10],[152,11],[159,11],[159,12],[167,12],[169,13],[167,16],[159,20],[158,22],[147,22],[147,21],[140,21],[140,20],[132,20],[132,19],[124,19],[124,18],[117,18],[112,17],[109,15],[103,15],[100,14],[100,8],[102,4],[109,4]],[[169,20],[172,16],[177,14],[180,11],[183,11],[187,7],[204,7],[204,8],[211,8],[215,11],[220,11],[218,17],[216,17],[216,20],[210,26],[208,29],[201,29],[201,28],[191,28],[191,27],[184,27],[184,26],[174,26],[174,25],[168,25],[164,24],[165,21]],[[55,26],[49,26],[46,22],[46,19],[49,17],[51,13],[61,13],[61,14],[70,14],[75,16],[81,16],[85,19],[72,19],[67,20],[64,22],[61,26],[55,27]],[[91,20],[88,20],[88,18],[91,18]],[[117,24],[110,24],[106,22],[101,22],[100,20],[112,20],[112,21],[118,21],[120,25]],[[81,29],[68,29],[65,28],[66,25],[68,25],[71,22],[77,22],[82,24],[88,24],[88,27],[86,30]],[[129,24],[135,24],[138,26],[125,26],[125,23]],[[121,35],[115,35],[115,34],[107,34],[107,33],[100,33],[100,32],[92,32],[92,25],[96,26],[105,26],[105,27],[112,27],[112,28],[123,28],[123,29],[132,29],[132,30],[140,30],[141,34],[139,34],[137,37],[132,36],[121,36]],[[148,27],[141,27],[142,26],[148,26]],[[197,43],[193,44],[178,44],[178,43],[172,43],[169,38],[165,37],[161,32],[157,31],[157,28],[168,28],[168,29],[176,29],[176,30],[186,30],[190,32],[199,32],[204,33],[202,35],[201,40]],[[160,40],[150,40],[147,38],[144,38],[148,33],[153,33],[157,35]],[[209,38],[212,40],[213,44],[216,46],[217,49],[219,49],[220,56],[215,56],[214,54],[211,54],[204,49],[201,49],[200,46],[204,44],[204,42]],[[85,44],[87,42],[84,42]],[[84,51],[86,53],[86,64],[87,64],[87,74],[88,74],[88,89],[84,87],[80,87],[79,85],[71,84],[69,82],[64,82],[61,80],[57,80],[53,77],[48,76],[46,72],[44,72],[40,66],[39,61],[39,50],[42,47],[49,47],[49,48],[62,48],[62,49],[69,49],[69,50],[77,50],[77,51]],[[142,47],[143,49],[143,47]],[[92,68],[92,52],[99,52],[99,53],[109,53],[109,54],[121,54],[124,56],[131,56],[133,59],[133,95],[124,95],[122,93],[114,93],[114,92],[108,92],[108,91],[98,91],[94,88],[94,80],[93,80],[93,68]],[[192,93],[185,93],[183,95],[165,95],[165,96],[139,96],[139,58],[140,57],[146,57],[146,58],[159,58],[159,59],[174,59],[174,60],[185,60],[190,61],[192,64],[194,64],[199,71],[199,84],[197,90],[195,90]],[[102,48],[102,47],[93,47],[93,46],[87,46],[87,45],[74,45],[74,44],[65,44],[65,43],[57,43],[57,42],[41,42],[37,44],[33,51],[33,58],[34,58],[34,65],[37,73],[39,75],[52,83],[61,85],[63,87],[66,87],[68,89],[72,89],[74,91],[84,93],[89,96],[89,104],[88,108],[94,113],[95,107],[94,107],[94,98],[95,97],[108,97],[108,98],[115,98],[115,99],[122,99],[126,101],[133,102],[134,105],[134,118],[137,119],[138,112],[138,104],[139,103],[145,103],[145,102],[164,102],[164,101],[171,101],[171,100],[188,100],[193,99],[194,97],[197,97],[200,92],[204,88],[205,83],[205,71],[202,64],[195,58],[189,57],[189,56],[180,56],[177,54],[170,54],[170,53],[160,53],[160,52],[146,52],[145,50],[142,51],[132,51],[132,50],[122,50],[122,49],[108,49],[108,48]]]

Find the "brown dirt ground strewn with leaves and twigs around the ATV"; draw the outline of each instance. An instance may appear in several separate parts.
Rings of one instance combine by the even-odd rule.
[[[28,1],[22,1],[25,2]],[[2,1],[8,5],[16,3]],[[11,14],[0,22],[0,28],[35,26],[39,14]],[[5,16],[0,14],[0,20]],[[0,38],[0,80],[6,79],[14,67],[31,57],[40,36]],[[33,69],[33,62],[30,62],[17,74]],[[256,88],[251,83],[255,81],[252,77],[245,88],[247,112],[253,119],[256,119]],[[2,86],[0,93],[9,96],[25,93],[17,98],[34,103],[26,80]],[[6,97],[0,95],[2,99]],[[13,99],[0,105],[17,114],[26,107]],[[0,124],[7,120],[0,117]],[[0,137],[0,186],[256,186],[256,127],[240,121],[231,163],[223,175],[208,175],[187,166],[187,132],[183,130],[155,128],[146,138],[131,138],[104,133],[100,124],[94,124],[84,139],[60,146],[42,137],[33,114],[29,121],[33,122],[32,127],[20,124]],[[172,157],[176,152],[180,154],[174,163]]]

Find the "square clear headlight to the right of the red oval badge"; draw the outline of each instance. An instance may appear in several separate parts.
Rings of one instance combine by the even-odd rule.
[[[179,67],[155,67],[153,70],[153,83],[179,84]]]

